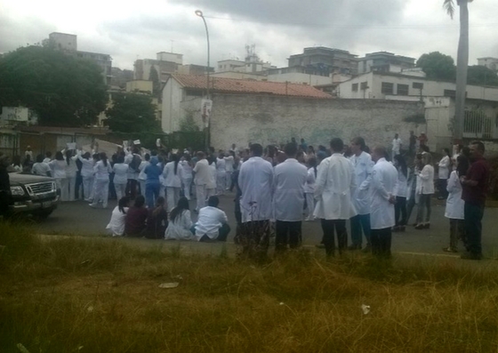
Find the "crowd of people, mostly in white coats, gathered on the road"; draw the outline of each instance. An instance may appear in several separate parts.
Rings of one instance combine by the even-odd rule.
[[[116,198],[108,223],[113,236],[224,241],[230,229],[218,196],[235,189],[235,240],[250,257],[266,256],[272,232],[276,253],[301,246],[302,221],[314,220],[323,230],[317,246],[329,256],[363,249],[389,257],[392,232],[406,231],[415,206],[414,229],[430,229],[438,191],[449,219],[444,250],[457,252],[461,240],[467,250],[462,257],[480,259],[489,174],[483,143],[454,146],[453,155],[445,148],[434,164],[424,133],[410,132],[408,140],[404,148],[397,133],[390,149],[372,151],[362,137],[349,144],[335,138],[330,148],[317,149],[303,139],[267,148],[234,144],[218,152],[146,152],[135,146],[118,148],[110,159],[104,152],[68,149],[53,159],[50,152],[38,155],[34,164],[27,148],[25,162],[14,158],[11,167],[52,176],[61,201],[83,198],[107,208],[108,199]],[[193,198],[196,223],[189,206]]]

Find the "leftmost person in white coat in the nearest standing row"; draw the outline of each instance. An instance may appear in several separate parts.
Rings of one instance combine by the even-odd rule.
[[[251,157],[239,167],[241,227],[238,235],[242,254],[263,260],[269,247],[269,220],[272,218],[273,166],[261,156],[259,143],[251,145]]]

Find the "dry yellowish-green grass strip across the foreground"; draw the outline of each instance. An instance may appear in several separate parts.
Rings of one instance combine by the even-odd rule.
[[[137,250],[123,239],[40,242],[5,224],[0,244],[2,352],[18,343],[31,353],[498,347],[494,262],[300,252],[254,266],[223,252]],[[158,287],[172,281],[181,284]]]

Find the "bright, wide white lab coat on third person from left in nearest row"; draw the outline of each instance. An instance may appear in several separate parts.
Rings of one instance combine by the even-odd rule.
[[[353,164],[340,153],[320,163],[315,182],[316,218],[349,220],[357,214],[351,200],[357,188],[354,174]]]

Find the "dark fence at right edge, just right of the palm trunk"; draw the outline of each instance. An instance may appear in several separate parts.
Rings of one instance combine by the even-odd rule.
[[[468,139],[498,139],[498,115],[487,116],[483,110],[466,111],[463,117],[463,137]]]

